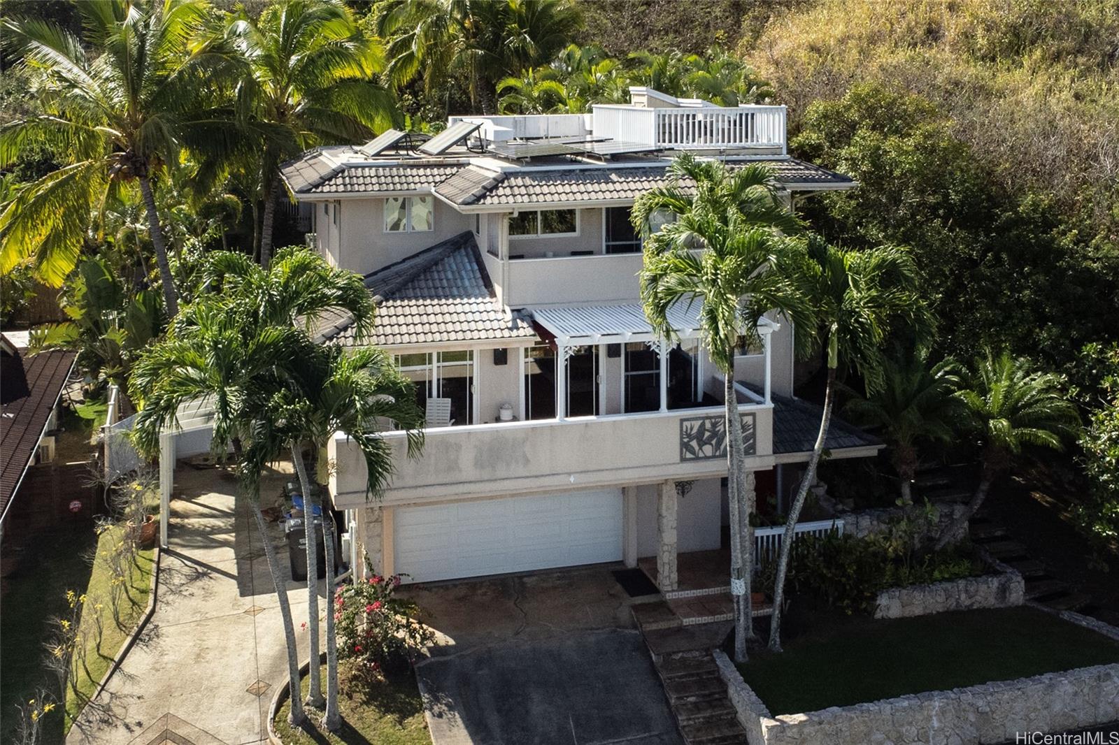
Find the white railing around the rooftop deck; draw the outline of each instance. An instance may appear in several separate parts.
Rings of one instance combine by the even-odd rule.
[[[780,148],[784,152],[784,106],[594,107],[595,136],[666,150]]]

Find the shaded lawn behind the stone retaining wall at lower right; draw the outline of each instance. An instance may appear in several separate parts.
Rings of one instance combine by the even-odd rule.
[[[1031,607],[817,621],[739,666],[773,715],[1119,662],[1119,643]]]

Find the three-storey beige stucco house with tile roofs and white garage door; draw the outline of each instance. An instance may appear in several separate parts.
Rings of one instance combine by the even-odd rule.
[[[722,378],[697,308],[673,310],[678,343],[652,334],[630,208],[684,150],[771,164],[790,207],[856,185],[787,154],[783,106],[631,98],[591,114],[452,117],[422,143],[389,132],[284,167],[314,215],[309,242],[376,296],[366,341],[396,355],[429,412],[422,458],[386,434],[396,473],[376,502],[352,443],[329,447],[335,503],[378,570],[424,582],[657,555],[671,588],[678,551],[720,548]],[[760,499],[784,500],[819,408],[791,398],[791,324],[759,331],[735,370],[747,468]],[[345,317],[318,332],[358,343]],[[827,446],[852,458],[881,444],[839,422]]]

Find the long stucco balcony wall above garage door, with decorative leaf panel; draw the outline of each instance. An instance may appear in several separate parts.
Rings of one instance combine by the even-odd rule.
[[[773,408],[740,405],[747,461],[772,464]],[[429,430],[408,460],[404,433],[387,432],[396,474],[382,503],[469,499],[510,492],[594,489],[726,473],[722,406],[646,414],[477,424]],[[366,503],[365,462],[336,436],[328,446],[339,509]]]

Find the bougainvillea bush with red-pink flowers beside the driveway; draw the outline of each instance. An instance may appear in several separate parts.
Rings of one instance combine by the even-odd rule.
[[[355,675],[372,682],[406,675],[415,654],[434,639],[416,620],[415,603],[396,597],[401,575],[380,576],[365,558],[366,578],[335,593],[338,656],[352,660]]]

